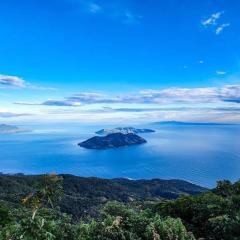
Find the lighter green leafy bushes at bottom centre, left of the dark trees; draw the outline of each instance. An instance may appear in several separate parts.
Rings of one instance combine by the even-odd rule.
[[[194,240],[180,219],[150,217],[119,203],[109,203],[101,221],[80,224],[79,240]]]

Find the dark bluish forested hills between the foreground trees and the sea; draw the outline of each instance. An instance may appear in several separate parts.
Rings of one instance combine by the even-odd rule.
[[[139,180],[83,178],[61,175],[64,195],[59,206],[75,219],[96,217],[108,201],[142,202],[159,198],[175,199],[181,194],[196,195],[207,189],[180,180]],[[41,176],[0,175],[0,199],[17,204],[34,191]]]

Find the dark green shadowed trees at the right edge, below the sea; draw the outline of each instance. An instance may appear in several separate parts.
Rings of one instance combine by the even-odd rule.
[[[206,239],[240,239],[240,182],[218,182],[212,191],[199,196],[181,196],[161,201],[152,208],[161,216],[181,218],[189,231]]]

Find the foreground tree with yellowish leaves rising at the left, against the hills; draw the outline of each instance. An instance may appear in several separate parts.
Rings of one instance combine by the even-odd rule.
[[[2,229],[1,239],[57,239],[59,229],[62,229],[60,225],[66,225],[69,222],[68,218],[54,219],[59,217],[54,208],[62,193],[62,179],[59,176],[43,175],[36,184],[36,190],[22,199],[24,208],[19,209],[22,211],[20,218],[15,219],[14,224],[6,225]]]

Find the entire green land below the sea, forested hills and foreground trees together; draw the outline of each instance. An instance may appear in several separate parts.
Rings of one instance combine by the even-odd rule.
[[[238,240],[240,181],[0,176],[2,240]]]

